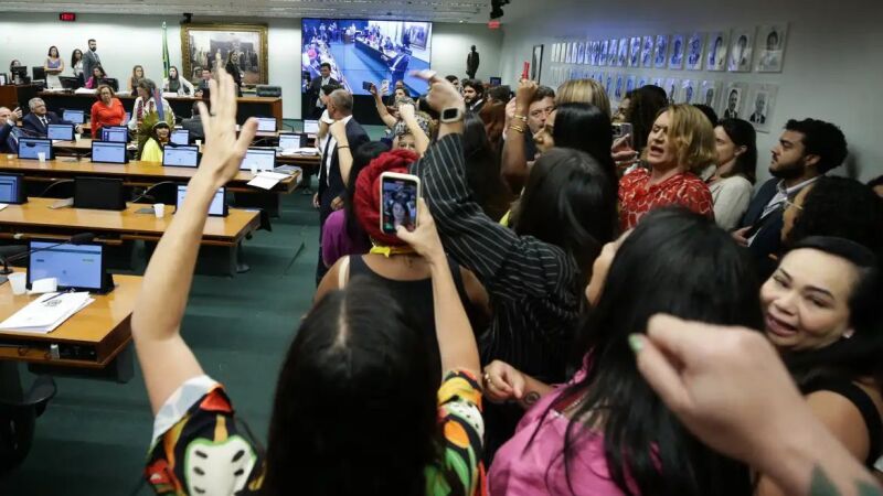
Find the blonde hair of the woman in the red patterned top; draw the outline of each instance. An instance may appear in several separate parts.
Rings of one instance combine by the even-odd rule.
[[[668,138],[677,148],[678,164],[691,172],[701,172],[716,159],[714,128],[702,110],[679,104],[662,109],[669,112]]]

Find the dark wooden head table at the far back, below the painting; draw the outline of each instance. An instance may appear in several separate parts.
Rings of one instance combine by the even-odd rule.
[[[61,109],[75,109],[85,110],[87,114],[92,111],[92,105],[97,101],[94,94],[88,93],[64,93],[64,91],[41,91],[40,97],[46,103],[50,110],[61,115]],[[120,96],[117,98],[123,103],[123,107],[127,112],[132,111],[135,106],[135,96]],[[172,111],[177,117],[190,117],[193,110],[194,101],[202,101],[202,98],[193,97],[168,97],[166,98],[172,107]],[[236,98],[238,110],[236,111],[236,120],[240,123],[245,122],[249,117],[275,117],[276,128],[283,127],[283,99],[277,97],[240,97]]]

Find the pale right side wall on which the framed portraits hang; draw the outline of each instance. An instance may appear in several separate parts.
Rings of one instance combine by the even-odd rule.
[[[540,2],[536,2],[539,6]],[[758,134],[758,175],[767,177],[768,150],[789,118],[813,117],[841,127],[852,157],[845,173],[861,180],[883,174],[883,2],[841,0],[545,0],[544,13],[512,24],[504,22],[501,73],[513,83],[534,44],[546,45],[543,72],[549,74],[551,44],[689,31],[728,30],[788,22],[781,74],[714,74],[709,79],[776,83],[778,101],[772,132]],[[539,8],[539,7],[536,7]],[[506,21],[506,19],[504,19]],[[611,68],[613,69],[613,68]],[[617,72],[629,72],[621,68]],[[688,77],[684,71],[661,71],[662,77]],[[508,79],[506,76],[509,76]],[[544,76],[545,78],[545,76]]]

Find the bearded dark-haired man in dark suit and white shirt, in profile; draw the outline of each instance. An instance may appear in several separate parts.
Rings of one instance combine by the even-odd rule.
[[[843,163],[847,139],[837,126],[816,119],[789,120],[773,148],[769,173],[748,204],[733,238],[748,247],[758,268],[772,268],[770,256],[781,251],[783,212],[802,188]],[[763,276],[763,273],[762,273]],[[767,273],[768,276],[768,273]]]

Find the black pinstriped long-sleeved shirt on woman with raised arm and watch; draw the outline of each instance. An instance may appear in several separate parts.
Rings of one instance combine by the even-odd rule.
[[[518,236],[485,215],[466,182],[462,136],[448,134],[412,165],[445,249],[485,284],[493,319],[482,363],[504,360],[541,380],[564,380],[582,304],[576,262],[557,246]]]

